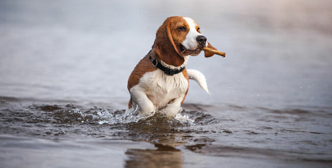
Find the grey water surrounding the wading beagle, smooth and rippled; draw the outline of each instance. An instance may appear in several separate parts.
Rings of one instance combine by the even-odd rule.
[[[1,1],[0,167],[331,167],[331,6]],[[226,57],[189,59],[211,95],[137,122],[127,79],[173,15]]]

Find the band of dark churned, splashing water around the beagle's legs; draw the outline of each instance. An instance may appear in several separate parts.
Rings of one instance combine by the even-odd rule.
[[[164,114],[164,109],[157,110],[146,116],[141,116],[139,115],[138,106],[136,106],[133,111],[129,112],[97,107],[85,109],[84,107],[75,107],[72,104],[62,107],[58,105],[32,105],[29,106],[29,108],[31,110],[44,111],[44,113],[42,113],[44,118],[40,118],[41,122],[51,122],[54,124],[123,125],[138,122],[149,123],[152,120],[158,120],[160,117],[168,118],[167,115]],[[171,125],[188,126],[192,124],[207,124],[216,120],[216,118],[211,115],[199,111],[185,111],[181,107],[170,109],[178,111],[173,119],[166,119],[171,122]]]

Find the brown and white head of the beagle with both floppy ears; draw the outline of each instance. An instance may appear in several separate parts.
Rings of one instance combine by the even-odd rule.
[[[165,63],[180,66],[185,56],[197,56],[202,47],[215,49],[201,34],[199,25],[192,18],[173,16],[167,18],[159,27],[154,52]],[[212,55],[214,54],[205,52],[205,57]]]

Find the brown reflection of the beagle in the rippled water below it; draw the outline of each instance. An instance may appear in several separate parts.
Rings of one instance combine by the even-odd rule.
[[[139,134],[140,139],[146,139],[154,143],[157,148],[152,149],[128,149],[125,167],[182,167],[183,156],[176,146],[183,145],[185,136],[176,126],[183,124],[175,120],[169,121],[167,117],[156,114],[137,123],[131,123],[128,129]],[[145,136],[142,138],[142,135]]]

